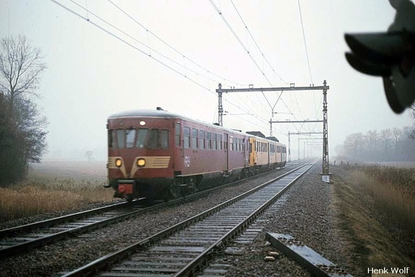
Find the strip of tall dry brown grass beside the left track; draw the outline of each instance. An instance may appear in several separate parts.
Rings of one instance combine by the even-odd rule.
[[[74,179],[28,180],[0,188],[0,222],[54,211],[111,202],[113,191],[103,181]]]

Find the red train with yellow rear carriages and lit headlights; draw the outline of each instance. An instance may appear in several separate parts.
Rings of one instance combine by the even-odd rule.
[[[114,197],[172,199],[286,163],[277,139],[243,134],[178,114],[140,109],[108,118]]]

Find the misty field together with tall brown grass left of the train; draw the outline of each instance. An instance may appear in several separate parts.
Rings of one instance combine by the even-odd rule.
[[[0,222],[113,201],[105,163],[47,161],[26,180],[0,188]]]

